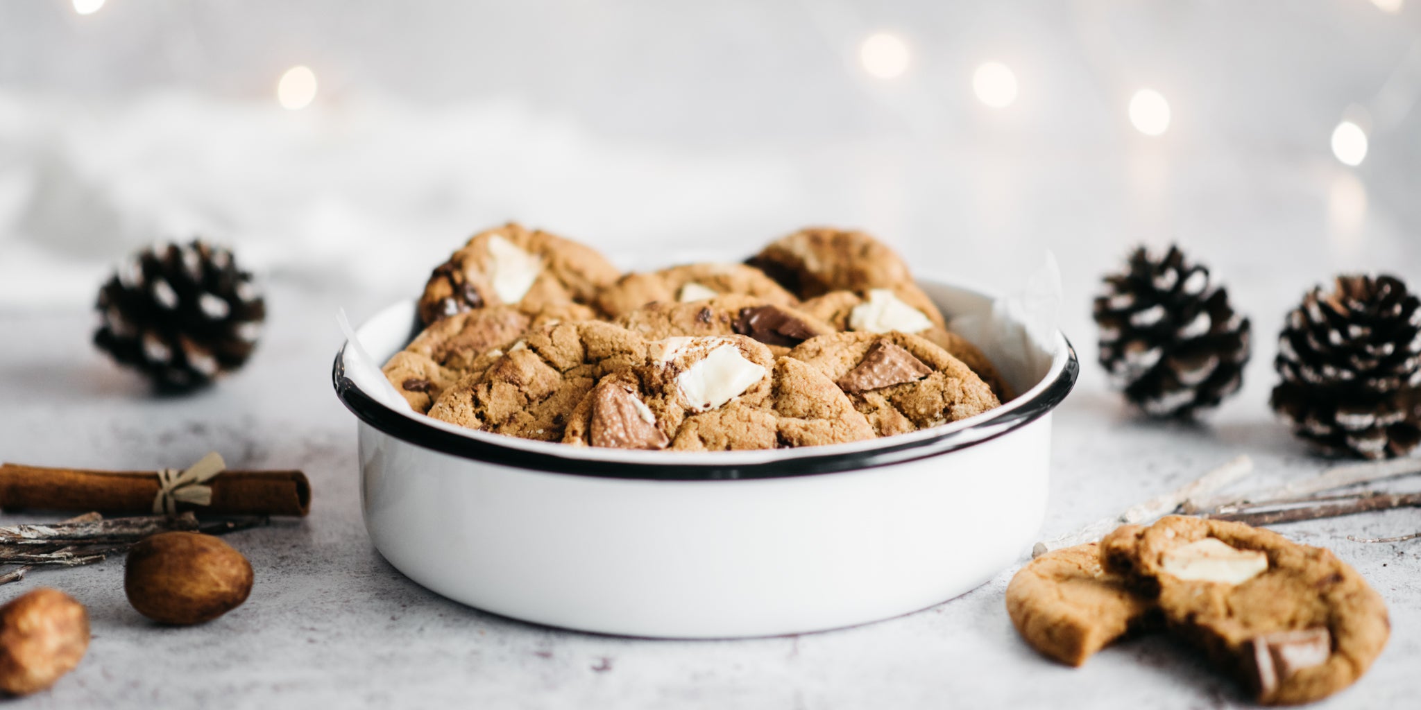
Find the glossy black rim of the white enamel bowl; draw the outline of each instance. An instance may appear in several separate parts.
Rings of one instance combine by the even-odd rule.
[[[402,442],[460,459],[486,462],[514,469],[564,473],[570,476],[591,476],[598,479],[635,480],[755,480],[789,479],[837,471],[851,471],[890,466],[931,456],[941,456],[968,446],[989,442],[1005,433],[1020,429],[1056,409],[1076,386],[1080,375],[1080,361],[1070,341],[1061,335],[1066,346],[1066,366],[1056,378],[1030,400],[1006,409],[996,416],[965,429],[944,432],[941,436],[914,439],[904,443],[887,443],[861,452],[827,452],[824,454],[797,456],[793,459],[720,464],[713,462],[662,463],[662,462],[603,462],[573,459],[543,452],[514,449],[493,442],[485,442],[455,432],[425,425],[381,405],[362,392],[345,376],[345,346],[335,354],[333,379],[335,395],[360,420]]]

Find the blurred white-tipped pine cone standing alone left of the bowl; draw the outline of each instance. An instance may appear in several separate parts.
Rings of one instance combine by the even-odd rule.
[[[252,274],[200,240],[138,253],[99,290],[97,308],[94,344],[168,390],[242,366],[266,318]]]

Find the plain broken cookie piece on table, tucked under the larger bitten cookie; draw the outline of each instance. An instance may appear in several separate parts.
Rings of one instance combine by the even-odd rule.
[[[1006,585],[1006,613],[1042,655],[1080,666],[1128,635],[1160,626],[1154,601],[1100,567],[1096,542],[1032,559]]]

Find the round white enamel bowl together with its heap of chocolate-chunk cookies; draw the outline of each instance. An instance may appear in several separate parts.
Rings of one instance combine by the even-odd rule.
[[[506,224],[335,356],[377,550],[455,601],[649,638],[851,626],[1015,562],[1046,513],[1054,325],[806,229],[622,273]]]

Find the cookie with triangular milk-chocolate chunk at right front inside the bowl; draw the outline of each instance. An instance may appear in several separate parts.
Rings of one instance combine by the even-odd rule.
[[[789,354],[823,372],[880,436],[956,422],[1000,405],[948,351],[905,332],[838,332]]]

